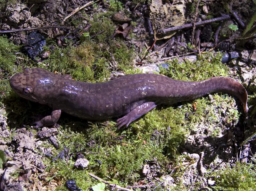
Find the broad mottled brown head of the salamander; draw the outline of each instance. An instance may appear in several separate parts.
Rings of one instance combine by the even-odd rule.
[[[10,85],[22,98],[44,104],[54,91],[56,76],[58,75],[42,68],[26,68],[11,77]]]

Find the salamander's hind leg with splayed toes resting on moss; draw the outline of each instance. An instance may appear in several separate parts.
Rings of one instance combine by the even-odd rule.
[[[118,127],[118,129],[120,129],[122,126],[126,126],[128,127],[128,125],[138,119],[139,117],[141,117],[142,115],[148,113],[150,110],[152,110],[153,108],[155,108],[156,105],[154,102],[146,102],[138,107],[136,107],[135,109],[133,109],[132,111],[130,111],[128,114],[126,114],[125,116],[123,116],[122,118],[119,118],[116,122],[116,127]]]

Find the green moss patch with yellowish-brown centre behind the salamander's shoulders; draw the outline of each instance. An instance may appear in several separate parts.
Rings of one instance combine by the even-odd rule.
[[[95,14],[90,21],[91,28],[80,40],[80,45],[73,47],[68,42],[66,48],[55,48],[40,67],[60,74],[70,74],[75,80],[101,82],[110,76],[113,70],[132,68],[134,49],[118,38],[113,39],[115,24],[109,18],[111,11]],[[106,30],[107,29],[107,30]],[[47,40],[48,45],[54,43]],[[116,65],[117,64],[117,65]]]

